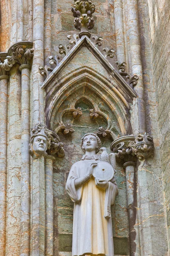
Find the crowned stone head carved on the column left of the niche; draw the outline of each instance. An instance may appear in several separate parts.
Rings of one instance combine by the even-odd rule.
[[[46,156],[46,150],[48,148],[48,137],[44,128],[33,129],[31,134],[31,141],[29,144],[29,152],[35,156]]]

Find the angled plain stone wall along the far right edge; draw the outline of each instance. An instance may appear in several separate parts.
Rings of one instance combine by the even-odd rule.
[[[170,249],[170,1],[147,1],[147,12]]]

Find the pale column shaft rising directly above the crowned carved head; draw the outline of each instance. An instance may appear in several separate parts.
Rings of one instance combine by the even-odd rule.
[[[44,123],[44,90],[41,89],[43,77],[39,67],[44,66],[44,1],[33,1],[33,41],[34,57],[32,64],[31,126]]]

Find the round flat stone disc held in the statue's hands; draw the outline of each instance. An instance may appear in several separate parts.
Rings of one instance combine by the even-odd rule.
[[[111,180],[114,176],[114,169],[110,163],[99,161],[97,166],[93,167],[93,177],[102,180]]]

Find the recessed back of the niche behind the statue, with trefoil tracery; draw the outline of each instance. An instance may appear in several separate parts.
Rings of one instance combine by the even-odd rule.
[[[62,252],[71,252],[72,248],[73,202],[65,191],[65,184],[71,166],[79,161],[84,154],[80,147],[80,140],[84,134],[94,132],[99,136],[102,147],[111,153],[110,145],[115,138],[121,136],[121,130],[113,111],[87,87],[80,88],[62,102],[56,111],[52,129],[65,145],[65,157],[57,158],[53,169],[54,248],[59,250],[59,255],[66,255]],[[101,153],[102,151],[99,151],[99,154]],[[120,192],[115,206],[112,207],[113,241],[116,243],[116,236],[121,236],[127,244],[126,200],[119,200],[119,197],[126,197],[125,175],[119,166],[116,166],[116,171],[115,177]],[[54,251],[56,250],[54,249]]]

